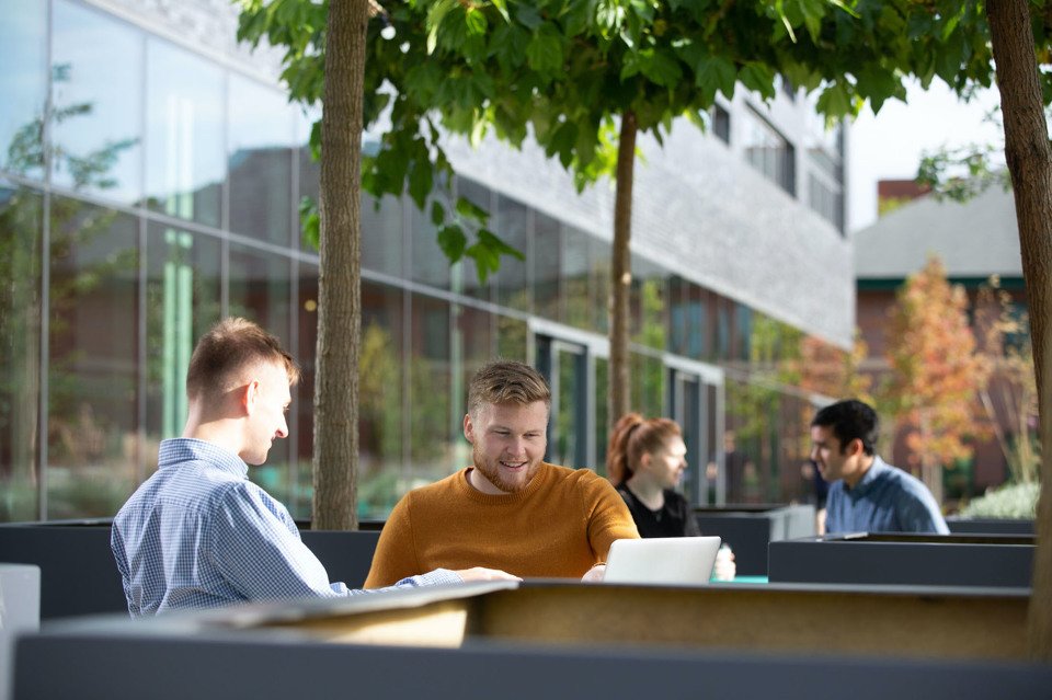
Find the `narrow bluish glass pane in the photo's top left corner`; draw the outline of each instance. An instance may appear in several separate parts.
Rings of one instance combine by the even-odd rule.
[[[0,0],[0,168],[44,179],[47,3]]]

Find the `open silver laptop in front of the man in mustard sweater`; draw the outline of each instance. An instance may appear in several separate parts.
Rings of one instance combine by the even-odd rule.
[[[701,585],[712,577],[718,537],[615,540],[604,583]]]

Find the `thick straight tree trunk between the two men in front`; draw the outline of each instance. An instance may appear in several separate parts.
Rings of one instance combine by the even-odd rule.
[[[358,518],[362,95],[368,0],[329,3],[321,133],[313,527]]]

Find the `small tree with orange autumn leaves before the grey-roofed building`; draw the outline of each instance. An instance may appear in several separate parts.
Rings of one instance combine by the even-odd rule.
[[[950,285],[937,256],[906,279],[891,310],[884,398],[905,428],[911,463],[938,502],[942,468],[972,455],[968,438],[984,426],[976,390],[985,385],[987,363],[976,352],[968,319],[968,296]]]

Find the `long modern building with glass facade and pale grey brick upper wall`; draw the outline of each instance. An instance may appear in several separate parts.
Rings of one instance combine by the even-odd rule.
[[[2,520],[112,515],[181,429],[194,341],[228,314],[305,368],[290,439],[252,478],[309,515],[318,256],[298,203],[318,169],[310,118],[236,25],[225,0],[0,0]],[[846,135],[789,85],[739,91],[709,126],[640,145],[633,403],[685,426],[695,502],[805,498],[816,398],[777,366],[802,338],[851,340]],[[526,260],[480,285],[408,199],[364,207],[366,517],[464,464],[465,386],[496,355],[550,377],[550,459],[602,470],[613,188],[576,195],[535,148],[447,146],[458,177],[435,196],[488,207]]]

